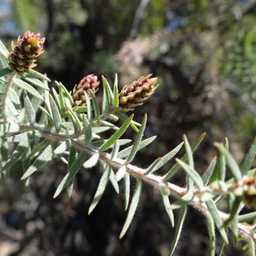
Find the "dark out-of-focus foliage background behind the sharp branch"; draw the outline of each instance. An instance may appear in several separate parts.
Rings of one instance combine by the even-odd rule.
[[[135,109],[139,122],[148,113],[145,137],[158,138],[135,164],[148,166],[180,143],[183,133],[191,143],[208,134],[194,154],[201,173],[216,155],[213,141],[227,136],[238,162],[250,147],[256,117],[255,0],[1,0],[0,10],[0,38],[7,48],[28,29],[40,32],[45,53],[36,69],[68,90],[90,73],[103,74],[110,84],[117,73],[120,89],[140,76],[158,76],[159,89]],[[1,248],[16,248],[8,251],[12,255],[168,253],[175,230],[158,192],[145,186],[133,226],[119,241],[126,215],[122,192],[115,196],[108,188],[88,217],[100,172],[81,170],[71,200],[66,195],[52,200],[64,173],[65,166],[52,163],[28,188],[17,175],[3,185]],[[180,172],[172,181],[182,185],[183,177]],[[184,228],[177,255],[206,255],[209,241],[200,214],[191,211]],[[224,255],[235,250],[231,243]]]

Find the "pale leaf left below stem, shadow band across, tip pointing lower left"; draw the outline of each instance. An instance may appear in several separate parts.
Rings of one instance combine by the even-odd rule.
[[[28,168],[28,170],[23,174],[21,180],[24,180],[35,172],[43,164],[47,164],[52,160],[52,153],[55,148],[58,147],[58,141],[53,141],[48,147],[44,149],[42,154],[36,158],[36,161]]]

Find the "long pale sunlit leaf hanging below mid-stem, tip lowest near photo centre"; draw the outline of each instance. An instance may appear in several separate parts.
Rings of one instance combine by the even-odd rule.
[[[124,222],[124,227],[119,236],[120,239],[124,236],[124,234],[126,233],[127,229],[129,228],[129,226],[132,222],[132,218],[134,216],[137,205],[139,203],[141,190],[142,190],[142,180],[137,179],[136,187],[133,192],[132,201],[131,201],[131,205],[130,205],[130,208],[129,208],[129,211],[127,214],[127,218]]]

